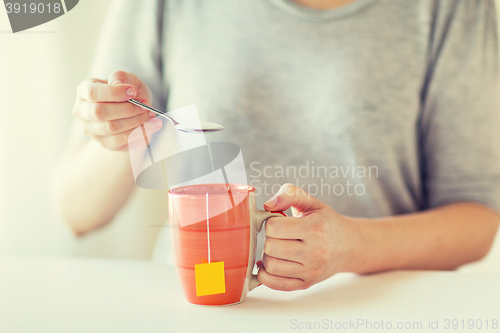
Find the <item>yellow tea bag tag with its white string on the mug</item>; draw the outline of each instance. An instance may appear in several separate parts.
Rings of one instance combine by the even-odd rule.
[[[206,195],[206,206],[208,263],[194,265],[196,296],[224,294],[226,292],[224,262],[210,262],[210,215],[208,212],[208,193]]]

